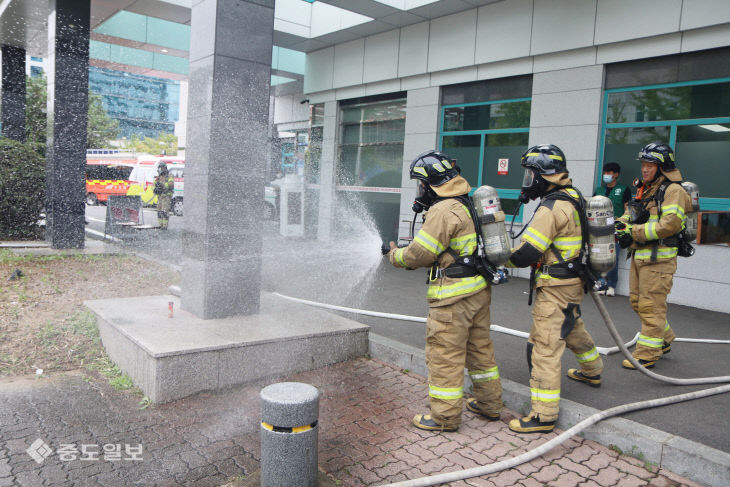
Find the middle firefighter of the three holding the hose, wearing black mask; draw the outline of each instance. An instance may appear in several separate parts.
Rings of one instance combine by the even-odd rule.
[[[567,198],[580,201],[582,196],[572,187],[565,155],[554,145],[531,147],[522,156],[522,166],[525,180],[520,201],[543,199],[507,264],[532,266],[530,285],[536,288],[527,345],[531,412],[510,421],[509,428],[537,433],[555,428],[565,347],[580,364],[580,369],[568,370],[573,380],[599,387],[603,361],[580,317],[584,283],[576,266],[583,234],[581,217]]]

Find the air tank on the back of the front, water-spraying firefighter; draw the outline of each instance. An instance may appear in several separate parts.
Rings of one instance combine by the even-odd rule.
[[[504,226],[504,212],[497,190],[491,186],[480,186],[472,195],[482,230],[484,251],[487,261],[494,266],[504,265],[512,253]]]

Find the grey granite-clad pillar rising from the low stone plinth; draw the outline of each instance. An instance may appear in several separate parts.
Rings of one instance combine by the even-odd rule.
[[[193,2],[182,307],[259,310],[274,0]]]

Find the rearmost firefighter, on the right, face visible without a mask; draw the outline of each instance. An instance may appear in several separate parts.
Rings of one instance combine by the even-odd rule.
[[[685,227],[691,200],[679,184],[671,184],[680,183],[682,175],[667,144],[646,145],[638,160],[642,183],[629,211],[617,223],[616,233],[622,246],[631,244],[630,301],[641,319],[633,356],[651,368],[671,350],[676,338],[667,321],[667,295],[677,270],[679,233]],[[628,360],[622,365],[634,368]]]

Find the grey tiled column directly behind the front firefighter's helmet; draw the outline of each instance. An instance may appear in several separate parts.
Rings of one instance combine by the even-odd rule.
[[[403,140],[403,176],[401,181],[398,237],[406,237],[413,220],[413,199],[416,183],[410,179],[410,167],[418,154],[438,149],[439,104],[438,87],[408,91],[406,100],[406,134]],[[404,222],[408,220],[408,222]],[[420,222],[420,218],[417,223]]]

